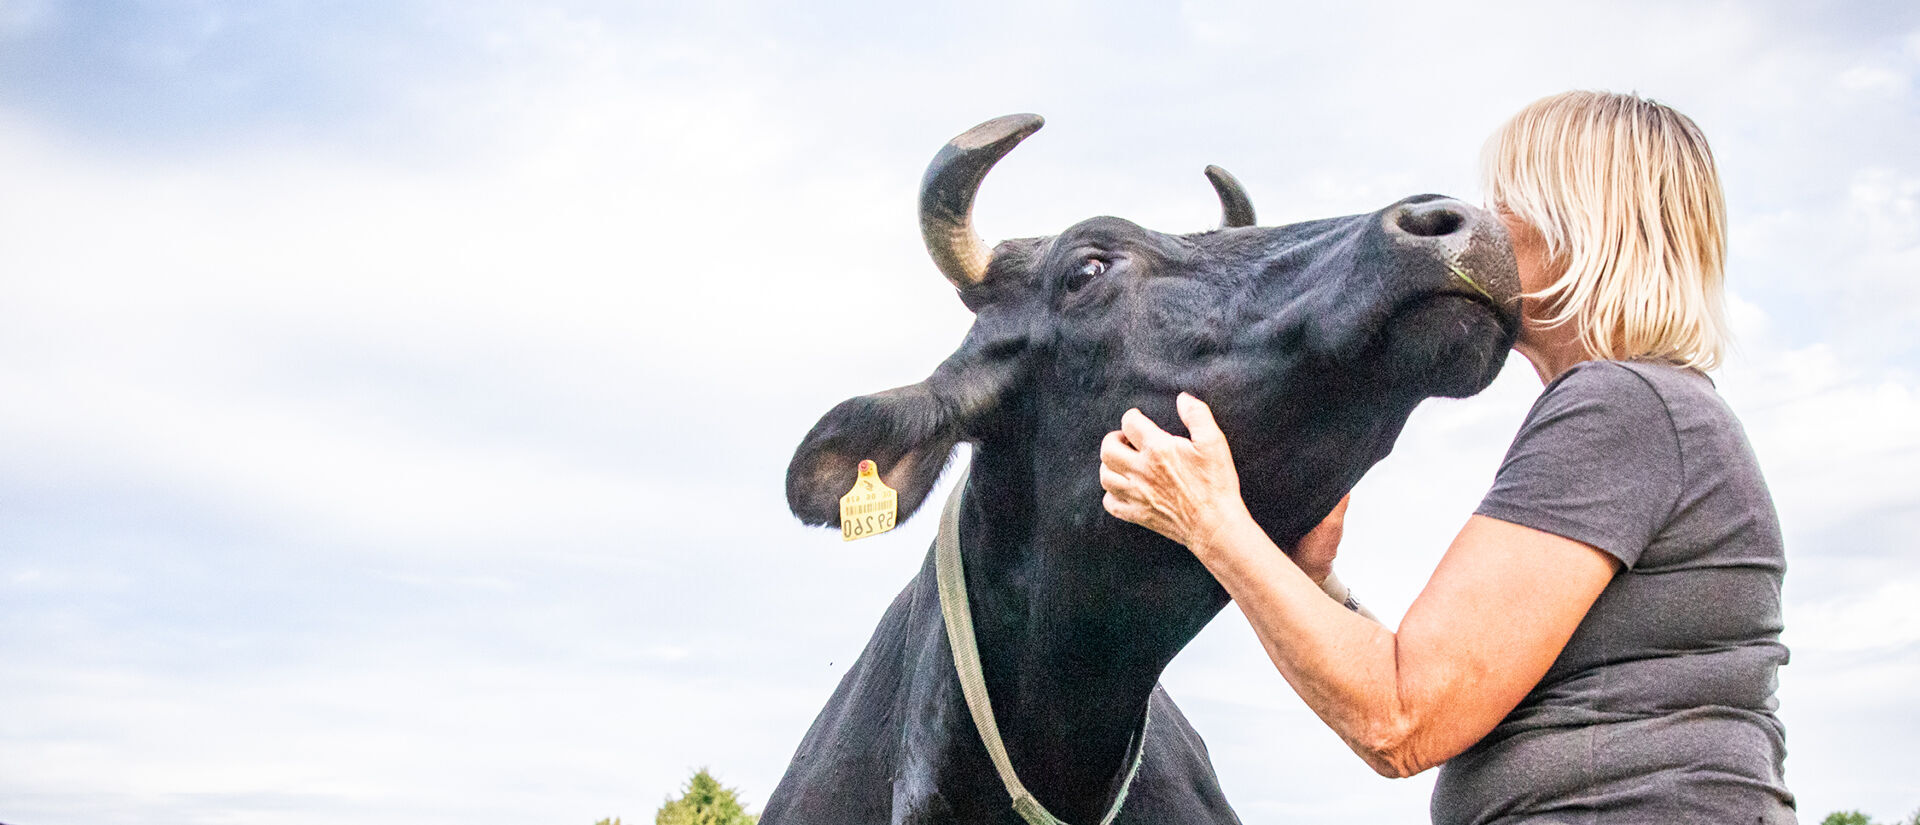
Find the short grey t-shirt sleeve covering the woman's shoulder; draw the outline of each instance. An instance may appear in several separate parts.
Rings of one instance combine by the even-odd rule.
[[[1617,363],[1584,363],[1534,403],[1475,510],[1594,545],[1632,568],[1680,497],[1680,436],[1661,395]]]

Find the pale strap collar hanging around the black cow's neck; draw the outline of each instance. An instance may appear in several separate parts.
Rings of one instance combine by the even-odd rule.
[[[941,587],[947,647],[954,650],[954,670],[960,672],[960,693],[966,695],[966,710],[973,714],[973,727],[979,729],[979,741],[987,746],[987,758],[993,760],[993,769],[1000,773],[1006,794],[1014,798],[1014,812],[1027,825],[1068,825],[1048,813],[1041,806],[1041,800],[1033,798],[1033,792],[1014,775],[1014,762],[1006,756],[1006,742],[1000,741],[1000,725],[993,721],[993,702],[987,700],[987,677],[979,666],[979,645],[973,639],[973,610],[966,599],[966,568],[960,564],[960,499],[964,497],[966,476],[966,472],[960,474],[952,495],[947,497],[947,508],[941,512],[941,531],[933,539],[933,574]],[[1119,806],[1127,802],[1127,789],[1133,787],[1133,777],[1140,773],[1140,758],[1146,754],[1144,718],[1133,741],[1127,742],[1127,750],[1133,752],[1133,760],[1127,764],[1127,779],[1119,783],[1114,806],[1100,817],[1100,825],[1114,823],[1114,817],[1119,815]]]

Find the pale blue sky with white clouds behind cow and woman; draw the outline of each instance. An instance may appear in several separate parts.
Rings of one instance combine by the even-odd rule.
[[[0,821],[647,821],[703,766],[758,808],[931,539],[781,476],[968,328],[947,138],[1048,119],[987,238],[1192,232],[1208,163],[1267,224],[1478,201],[1565,88],[1720,163],[1801,815],[1920,808],[1920,6],[899,6],[0,0]],[[1388,624],[1538,389],[1361,482]],[[1246,823],[1425,821],[1233,608],[1164,683]]]

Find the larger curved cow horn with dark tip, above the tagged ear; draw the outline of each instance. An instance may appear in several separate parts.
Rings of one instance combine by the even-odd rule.
[[[954,288],[987,278],[993,249],[973,234],[973,194],[1000,157],[1046,125],[1041,115],[995,117],[947,142],[920,178],[920,238]]]

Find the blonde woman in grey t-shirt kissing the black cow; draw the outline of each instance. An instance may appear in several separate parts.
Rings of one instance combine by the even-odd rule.
[[[1707,140],[1657,102],[1567,92],[1482,169],[1546,389],[1398,629],[1323,595],[1344,503],[1279,553],[1198,399],[1190,439],[1127,412],[1106,508],[1187,545],[1373,769],[1444,764],[1436,823],[1791,823],[1780,528],[1703,372],[1726,336]]]

